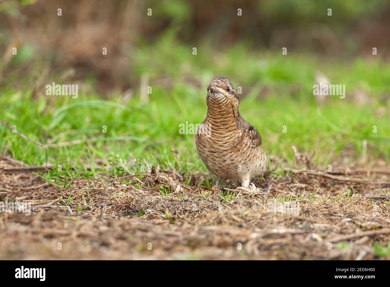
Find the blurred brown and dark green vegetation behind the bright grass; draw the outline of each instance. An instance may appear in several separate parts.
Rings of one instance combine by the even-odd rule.
[[[57,16],[58,8],[62,16]],[[152,16],[147,16],[149,8]],[[242,9],[242,16],[237,9]],[[147,67],[134,71],[133,61],[161,41],[165,45],[159,48],[197,47],[200,56],[206,53],[200,47],[206,46],[213,61],[223,61],[224,51],[233,45],[243,46],[239,52],[244,55],[259,51],[259,57],[264,51],[279,54],[283,47],[291,56],[337,61],[369,58],[372,47],[383,60],[390,55],[386,0],[2,0],[0,14],[2,77],[16,73],[21,79],[38,71],[47,81],[71,70],[70,80],[96,78],[99,93],[139,86],[134,72]],[[5,55],[15,46],[22,55],[9,59]],[[103,47],[108,50],[105,56]],[[178,55],[185,55],[182,52]],[[156,60],[147,59],[148,65]],[[170,60],[159,71],[169,69]]]

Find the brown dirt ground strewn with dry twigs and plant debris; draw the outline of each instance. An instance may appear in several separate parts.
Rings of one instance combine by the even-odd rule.
[[[19,166],[0,155],[0,201],[31,207],[0,214],[2,260],[390,259],[374,248],[390,242],[390,168],[380,160],[334,162],[332,172],[306,162],[229,199],[197,189],[201,174],[185,185],[181,171],[153,168],[128,185],[80,179],[61,190]]]

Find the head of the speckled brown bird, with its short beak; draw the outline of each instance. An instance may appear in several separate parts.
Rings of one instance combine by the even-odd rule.
[[[207,86],[207,105],[210,107],[234,107],[238,109],[239,100],[233,84],[227,78],[216,78]]]

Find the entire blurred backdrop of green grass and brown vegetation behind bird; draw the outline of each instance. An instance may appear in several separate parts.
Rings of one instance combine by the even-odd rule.
[[[0,119],[51,144],[49,162],[114,153],[205,171],[179,125],[203,121],[207,84],[226,77],[268,156],[292,162],[294,145],[321,166],[388,161],[389,22],[385,0],[0,0]],[[52,82],[78,84],[78,98],[47,96]],[[319,82],[345,84],[346,98],[314,96]],[[0,148],[45,161],[4,125]]]

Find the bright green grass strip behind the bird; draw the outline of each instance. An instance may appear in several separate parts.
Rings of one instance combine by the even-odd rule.
[[[291,161],[291,146],[294,145],[300,152],[315,150],[314,160],[325,165],[346,148],[361,157],[363,140],[367,140],[369,155],[374,159],[390,159],[390,101],[383,100],[390,85],[388,64],[376,59],[323,64],[291,53],[257,55],[241,45],[223,51],[218,55],[222,60],[216,60],[215,55],[202,46],[198,48],[198,55],[192,55],[191,48],[186,46],[170,49],[172,46],[167,39],[169,35],[152,48],[133,51],[131,56],[135,62],[133,76],[149,73],[151,77],[152,94],[148,104],[140,103],[138,89],[125,105],[119,93],[101,96],[82,87],[79,87],[77,99],[46,96],[44,91],[32,99],[34,81],[28,76],[20,80],[18,89],[12,84],[2,85],[0,106],[6,108],[2,109],[0,119],[43,144],[84,139],[80,144],[48,148],[48,161],[62,166],[61,172],[56,175],[55,169],[49,177],[59,179],[62,175],[65,187],[74,180],[71,169],[86,178],[96,177],[99,169],[88,171],[80,162],[93,162],[97,158],[109,159],[116,167],[117,176],[141,173],[140,166],[145,166],[143,158],[163,168],[206,171],[197,155],[195,136],[179,134],[179,125],[186,121],[192,124],[203,121],[207,112],[206,86],[213,77],[225,76],[236,89],[243,87],[243,94],[239,96],[245,97],[240,101],[240,113],[259,130],[267,155]],[[332,83],[346,84],[345,99],[330,96],[324,107],[317,108],[312,94],[317,69]],[[201,88],[183,84],[183,74],[200,80]],[[173,87],[154,85],[153,78],[159,77],[172,77]],[[264,88],[268,93],[265,97],[264,94],[259,96]],[[367,105],[350,102],[348,97],[355,89],[368,93],[371,102]],[[380,115],[378,109],[387,109],[387,113]],[[372,132],[374,125],[377,133]],[[285,133],[284,126],[287,127]],[[30,165],[45,162],[43,148],[3,125],[0,126],[0,148]],[[130,159],[133,164],[126,162]]]

